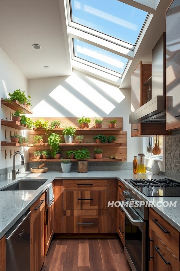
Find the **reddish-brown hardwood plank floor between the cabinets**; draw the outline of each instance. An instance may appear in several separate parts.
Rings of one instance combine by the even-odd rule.
[[[119,239],[55,239],[41,271],[131,271],[131,268]]]

